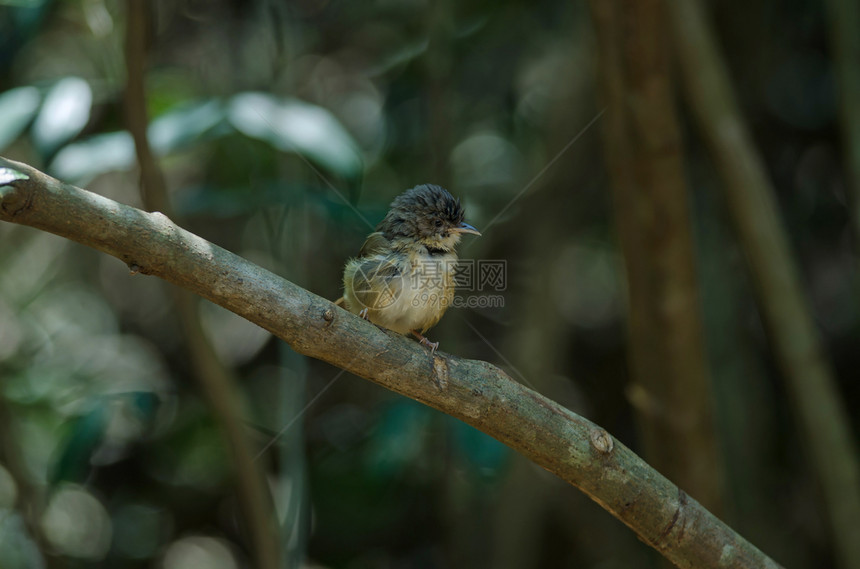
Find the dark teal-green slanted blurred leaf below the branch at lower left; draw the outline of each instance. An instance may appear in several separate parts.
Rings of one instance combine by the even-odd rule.
[[[101,444],[106,427],[104,405],[95,405],[89,413],[72,421],[71,433],[48,481],[51,484],[82,482],[90,471],[90,458]]]

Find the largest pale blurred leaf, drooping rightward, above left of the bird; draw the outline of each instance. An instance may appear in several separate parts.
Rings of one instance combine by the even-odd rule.
[[[357,144],[322,107],[265,93],[241,93],[230,102],[228,117],[245,135],[296,153],[344,179],[361,175]]]

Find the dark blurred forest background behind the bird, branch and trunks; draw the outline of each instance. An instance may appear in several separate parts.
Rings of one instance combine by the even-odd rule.
[[[0,1],[0,153],[143,207],[124,99],[127,58],[137,57],[176,220],[332,300],[388,203],[416,184],[443,185],[483,232],[461,257],[506,271],[501,285],[476,278],[461,291],[470,306],[429,333],[442,350],[501,366],[670,479],[673,461],[695,461],[712,495],[688,493],[778,562],[856,567],[836,553],[814,437],[798,420],[719,166],[681,94],[668,18],[678,203],[718,458],[701,462],[672,436],[654,454],[648,422],[696,407],[662,405],[630,358],[636,281],[602,134],[613,107],[599,4],[180,0],[129,19],[115,0]],[[835,5],[705,8],[856,438],[860,241]],[[133,27],[146,49],[130,55]],[[488,436],[298,356],[212,304],[199,310],[241,394],[284,566],[658,565],[599,506]],[[0,224],[0,567],[255,566],[236,465],[178,318],[165,283]],[[648,332],[672,341],[672,330]],[[834,460],[856,463],[855,452],[852,443]],[[841,529],[860,536],[860,526]]]

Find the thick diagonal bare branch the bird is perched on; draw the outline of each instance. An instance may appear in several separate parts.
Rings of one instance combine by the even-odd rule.
[[[161,277],[247,318],[299,353],[465,421],[581,489],[679,567],[778,567],[609,433],[497,367],[431,355],[160,213],[0,158],[0,220],[113,255],[133,273]]]

